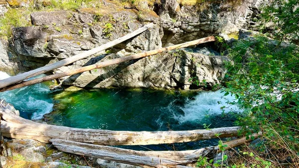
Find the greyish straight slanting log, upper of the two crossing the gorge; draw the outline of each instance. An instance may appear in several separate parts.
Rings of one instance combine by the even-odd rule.
[[[49,64],[49,65],[46,65],[46,66],[43,66],[43,67],[40,67],[40,68],[37,68],[37,69],[34,69],[34,70],[31,70],[31,71],[28,71],[28,72],[24,72],[22,74],[19,74],[19,75],[16,75],[16,76],[12,76],[12,77],[9,77],[9,78],[6,78],[6,79],[3,79],[3,80],[0,80],[0,88],[4,88],[8,85],[11,85],[11,84],[15,84],[17,82],[20,82],[24,79],[28,79],[30,77],[33,77],[33,76],[36,76],[36,75],[39,75],[39,74],[42,74],[42,73],[45,73],[47,71],[50,71],[50,70],[53,70],[53,69],[56,69],[56,68],[59,68],[59,67],[62,67],[62,66],[65,66],[65,65],[68,65],[70,63],[73,63],[77,60],[80,60],[80,59],[83,59],[83,58],[86,58],[92,54],[96,54],[102,50],[105,50],[107,48],[110,48],[110,47],[113,47],[114,45],[116,44],[119,44],[121,42],[124,42],[144,31],[146,31],[147,29],[149,29],[150,27],[152,27],[153,24],[152,23],[149,23],[135,31],[133,31],[132,33],[130,34],[127,34],[121,38],[118,38],[116,40],[113,40],[111,42],[108,42],[104,45],[101,45],[99,47],[96,47],[96,48],[93,48],[91,50],[88,50],[88,51],[85,51],[85,52],[82,52],[80,54],[77,54],[77,55],[74,55],[72,57],[69,57],[69,58],[65,58],[61,61],[58,61],[58,62],[55,62],[55,63],[52,63],[52,64]]]

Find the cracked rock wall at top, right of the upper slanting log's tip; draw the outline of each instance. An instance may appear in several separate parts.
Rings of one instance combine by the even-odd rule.
[[[206,2],[182,5],[162,0],[154,9],[161,19],[163,45],[178,44],[216,33],[236,32],[255,17],[261,0]]]

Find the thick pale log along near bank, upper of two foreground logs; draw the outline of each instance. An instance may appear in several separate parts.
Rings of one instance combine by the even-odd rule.
[[[211,130],[133,132],[96,129],[78,129],[35,123],[23,119],[8,110],[0,109],[1,132],[4,137],[33,139],[48,143],[50,139],[62,139],[100,145],[151,145],[183,143],[237,135],[238,127]]]

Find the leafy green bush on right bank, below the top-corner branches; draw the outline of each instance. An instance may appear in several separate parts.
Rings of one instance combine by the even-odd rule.
[[[277,43],[264,36],[236,43],[230,51],[234,63],[228,66],[226,91],[238,98],[231,104],[245,110],[237,124],[248,138],[262,131],[267,143],[288,142],[290,150],[298,151],[298,46]]]

